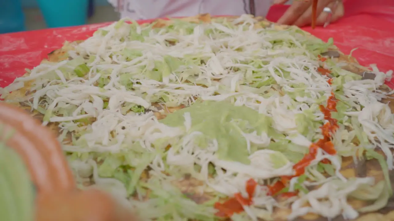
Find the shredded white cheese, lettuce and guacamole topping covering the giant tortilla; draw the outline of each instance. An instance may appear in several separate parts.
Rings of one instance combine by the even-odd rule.
[[[337,155],[319,150],[282,191],[299,190],[284,203],[294,202],[289,218],[313,212],[352,219],[387,203],[394,116],[380,103],[388,93],[377,88],[392,72],[373,67],[375,79],[361,80],[331,59],[319,61],[320,53],[335,49],[332,39],[325,43],[296,27],[261,28],[247,15],[155,24],[115,22],[71,45],[71,59],[40,64],[2,89],[6,97],[30,81],[34,93],[25,103],[44,114],[44,125],[59,124],[81,188],[89,182],[108,190],[145,219],[214,220],[213,202],[238,192],[246,197],[252,178],[259,183],[253,204],[232,219],[272,220],[283,202],[265,185],[293,175],[294,164],[322,138],[319,105],[333,91]],[[331,84],[317,70],[322,65],[331,70]],[[199,103],[207,104],[200,114],[188,109]],[[386,181],[340,173],[341,157],[364,151],[379,160]],[[320,163],[325,158],[331,164]],[[199,184],[181,190],[185,176]],[[209,199],[196,203],[190,194]],[[348,196],[375,203],[357,211]]]

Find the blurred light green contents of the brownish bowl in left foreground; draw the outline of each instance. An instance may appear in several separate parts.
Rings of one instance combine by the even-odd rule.
[[[33,221],[34,192],[24,161],[0,141],[0,220]]]

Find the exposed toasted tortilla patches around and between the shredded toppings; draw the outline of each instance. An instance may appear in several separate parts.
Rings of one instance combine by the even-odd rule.
[[[210,15],[204,14],[204,15],[198,15],[195,17],[187,17],[187,18],[182,18],[182,20],[188,21],[188,22],[206,22],[209,23],[211,20],[215,20],[219,18],[211,18]],[[228,19],[234,19],[232,17],[228,17]],[[264,20],[263,18],[256,18],[259,20],[259,23],[257,23],[255,26],[256,28],[261,28],[261,27],[266,27],[266,26],[271,26],[273,23],[268,22],[267,20]],[[156,24],[154,25],[155,28],[162,28],[165,26],[168,26],[172,23],[171,20],[162,20],[158,19],[156,20]],[[275,28],[277,29],[287,29],[289,26],[280,26],[280,25],[275,25]],[[44,60],[43,62],[59,62],[68,59],[67,52],[68,50],[72,49],[74,46],[76,46],[79,42],[72,42],[69,44],[66,44],[63,48],[59,50],[55,50],[51,53],[48,54],[48,59]],[[333,49],[333,51],[329,52],[330,56],[336,57],[336,61],[338,62],[345,62],[347,64],[344,69],[349,70],[353,73],[360,74],[361,76],[365,78],[371,78],[374,77],[373,74],[371,76],[371,73],[368,72],[368,68],[363,67],[359,65],[353,57],[350,57],[348,55],[344,55],[343,53],[337,51],[336,49]],[[25,101],[30,94],[33,92],[30,90],[30,84],[31,82],[26,82],[23,88],[20,88],[19,90],[13,91],[11,94],[9,94],[6,97],[7,102],[14,103],[15,105],[18,105],[20,108],[25,109],[27,111],[31,111],[30,107],[26,107],[24,105],[21,105],[19,101]],[[382,90],[390,90],[388,87],[382,88]],[[390,103],[390,99],[384,99],[382,102],[385,103]],[[155,104],[153,104],[155,105]],[[174,112],[178,109],[181,109],[182,107],[176,107],[176,108],[167,108],[164,107],[164,114],[156,112],[155,115],[157,118],[161,119],[165,117],[165,114]],[[394,113],[394,104],[390,103],[390,109]],[[43,119],[43,114],[40,114],[39,112],[33,111],[31,112],[32,116],[35,118],[38,118],[40,120]],[[59,128],[56,123],[50,123],[48,125],[54,133],[59,133]],[[383,155],[383,153],[382,153]],[[380,165],[377,162],[377,160],[360,160],[357,165],[353,162],[353,158],[347,157],[343,158],[342,162],[342,174],[347,177],[375,177],[376,182],[379,180],[383,180],[383,172],[381,171]],[[392,186],[394,186],[394,171],[389,171],[390,172],[390,177]],[[148,173],[144,173],[143,177],[148,176]],[[202,203],[205,202],[212,197],[209,194],[199,194],[197,192],[197,188],[201,185],[203,185],[203,182],[190,178],[190,177],[184,177],[184,179],[180,180],[179,182],[175,183],[180,190],[182,190],[183,193],[185,193],[190,199],[197,203]],[[349,204],[353,206],[353,208],[361,208],[363,206],[366,206],[368,203],[364,201],[359,201],[355,199],[349,199]],[[273,219],[274,220],[287,220],[286,217],[287,215],[290,214],[290,209],[285,209],[285,208],[276,208],[274,214],[273,214]],[[316,214],[307,214],[302,217],[298,217],[296,219],[297,221],[306,221],[306,220],[315,220],[315,221],[320,221],[320,220],[327,220],[327,218],[320,217]],[[342,216],[338,216],[335,219],[335,221],[341,221],[344,220]],[[358,221],[364,221],[364,220],[379,220],[379,221],[389,221],[389,220],[394,220],[394,197],[392,197],[389,201],[388,204],[385,208],[379,210],[378,212],[375,213],[370,213],[370,214],[362,214],[360,215],[359,218],[356,220]]]

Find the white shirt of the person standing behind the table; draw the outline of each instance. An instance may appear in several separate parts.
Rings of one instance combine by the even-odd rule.
[[[108,0],[115,8],[119,4],[121,17],[134,20],[188,17],[198,14],[242,15],[265,17],[272,0]]]

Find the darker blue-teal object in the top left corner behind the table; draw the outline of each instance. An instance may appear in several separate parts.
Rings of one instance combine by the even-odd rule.
[[[25,31],[20,0],[0,0],[0,34]]]

